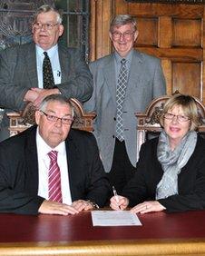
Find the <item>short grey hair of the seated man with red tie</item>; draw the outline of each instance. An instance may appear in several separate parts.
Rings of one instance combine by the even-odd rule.
[[[62,94],[51,94],[45,97],[42,103],[40,104],[39,110],[44,112],[46,110],[48,103],[51,103],[51,102],[57,102],[57,103],[63,103],[63,104],[69,105],[69,107],[71,108],[72,117],[74,116],[74,108],[71,103],[71,100],[67,99]]]

